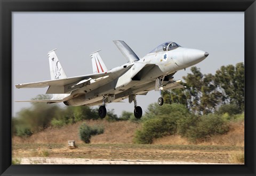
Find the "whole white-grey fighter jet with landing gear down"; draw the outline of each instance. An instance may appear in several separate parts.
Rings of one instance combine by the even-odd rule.
[[[46,94],[52,94],[52,98],[17,102],[63,102],[67,106],[101,105],[99,116],[105,118],[106,103],[121,102],[129,98],[129,103],[134,103],[135,118],[140,119],[142,108],[137,105],[137,95],[147,95],[150,90],[159,91],[157,103],[162,106],[162,90],[183,88],[179,81],[173,80],[173,75],[203,61],[209,55],[207,52],[168,41],[139,58],[124,41],[114,40],[114,43],[127,63],[108,70],[99,50],[90,55],[93,73],[72,78],[67,78],[53,49],[48,53],[51,80],[15,85],[16,88],[49,87]]]

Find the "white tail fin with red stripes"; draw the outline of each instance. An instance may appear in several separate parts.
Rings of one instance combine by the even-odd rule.
[[[93,73],[104,73],[108,70],[106,65],[102,61],[102,59],[99,55],[99,52],[100,52],[100,50],[95,51],[95,52],[91,53],[91,55],[90,55],[91,59],[92,59]]]

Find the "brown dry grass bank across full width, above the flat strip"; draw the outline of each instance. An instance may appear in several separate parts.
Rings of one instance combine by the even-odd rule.
[[[85,121],[89,125],[102,125],[105,130],[101,135],[93,136],[91,144],[132,144],[134,132],[140,126],[130,121],[108,122],[106,120]],[[67,125],[60,129],[46,129],[29,138],[14,137],[13,144],[65,144],[68,140],[75,140],[76,144],[83,144],[79,138],[78,129],[82,122]],[[226,135],[213,136],[210,140],[198,145],[244,146],[244,123],[230,122],[230,130]],[[179,135],[165,136],[155,139],[153,144],[189,145],[186,138]]]

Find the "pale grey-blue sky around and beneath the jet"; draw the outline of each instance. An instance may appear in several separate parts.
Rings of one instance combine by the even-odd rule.
[[[203,74],[222,65],[244,62],[244,12],[13,12],[12,13],[12,116],[47,88],[17,89],[19,83],[50,80],[47,53],[55,53],[67,77],[92,73],[90,54],[99,53],[108,69],[126,63],[113,40],[124,40],[141,58],[159,44],[174,41],[210,55],[196,64]],[[187,76],[180,70],[174,80]],[[158,91],[137,96],[143,113],[157,102]],[[65,105],[60,104],[62,107]],[[121,115],[133,112],[133,103],[107,104]]]

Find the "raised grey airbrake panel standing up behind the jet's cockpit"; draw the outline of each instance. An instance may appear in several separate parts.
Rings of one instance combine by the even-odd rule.
[[[124,55],[127,61],[134,62],[139,61],[139,57],[132,51],[132,49],[121,40],[114,40],[115,45],[121,51],[121,53]]]

